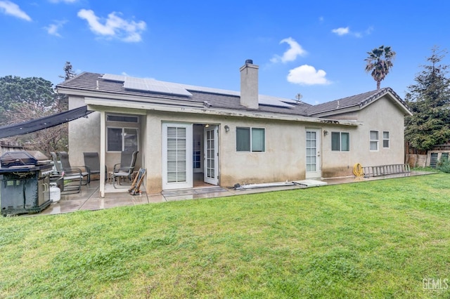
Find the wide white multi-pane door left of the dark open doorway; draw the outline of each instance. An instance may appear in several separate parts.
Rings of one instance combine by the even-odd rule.
[[[192,188],[192,124],[162,124],[162,190]]]

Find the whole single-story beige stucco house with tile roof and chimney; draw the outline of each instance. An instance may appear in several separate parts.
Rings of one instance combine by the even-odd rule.
[[[70,109],[94,111],[69,124],[71,163],[98,152],[110,171],[122,150],[139,150],[136,168],[147,169],[148,193],[197,181],[231,187],[332,178],[352,175],[356,163],[404,163],[411,112],[391,88],[321,105],[259,95],[252,60],[240,67],[240,82],[237,92],[84,72],[58,84]]]

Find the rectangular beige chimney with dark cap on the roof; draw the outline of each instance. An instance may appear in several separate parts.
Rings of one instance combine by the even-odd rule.
[[[253,60],[245,60],[240,67],[240,105],[258,109],[258,69]]]

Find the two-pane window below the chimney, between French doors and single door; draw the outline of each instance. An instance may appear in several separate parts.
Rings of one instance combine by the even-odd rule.
[[[265,135],[266,129],[264,128],[236,128],[236,151],[265,152]]]

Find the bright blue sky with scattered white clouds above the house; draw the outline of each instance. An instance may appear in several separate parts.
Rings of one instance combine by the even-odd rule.
[[[450,2],[0,0],[0,77],[58,84],[75,72],[238,91],[245,60],[259,93],[316,104],[376,88],[364,72],[391,46],[381,86],[401,98],[433,46],[450,50]],[[444,60],[450,64],[449,56]]]

